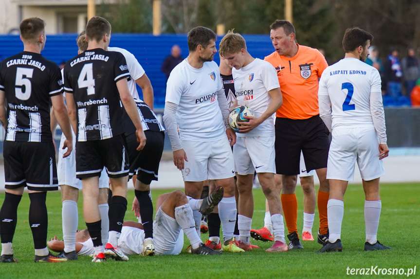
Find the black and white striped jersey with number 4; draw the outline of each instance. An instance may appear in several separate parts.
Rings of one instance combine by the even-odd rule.
[[[124,133],[116,82],[128,79],[126,59],[119,52],[90,49],[64,67],[64,90],[77,110],[77,141],[104,140]]]

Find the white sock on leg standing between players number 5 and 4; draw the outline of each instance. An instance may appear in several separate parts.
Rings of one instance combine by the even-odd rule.
[[[77,202],[73,200],[63,201],[61,208],[61,219],[63,220],[63,241],[64,252],[69,253],[76,250],[76,230],[79,222]]]

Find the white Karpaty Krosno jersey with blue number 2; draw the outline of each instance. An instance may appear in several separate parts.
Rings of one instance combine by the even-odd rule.
[[[374,127],[371,92],[381,93],[381,77],[374,67],[356,58],[342,59],[327,67],[319,81],[318,95],[330,98],[332,129]]]

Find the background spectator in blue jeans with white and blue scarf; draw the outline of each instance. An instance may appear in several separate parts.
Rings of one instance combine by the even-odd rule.
[[[402,70],[398,54],[398,49],[396,47],[391,47],[390,54],[388,55],[388,59],[384,67],[384,78],[387,84],[386,93],[395,99],[401,96]]]

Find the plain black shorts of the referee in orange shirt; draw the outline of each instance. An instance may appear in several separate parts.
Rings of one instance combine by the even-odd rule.
[[[277,174],[300,173],[300,151],[306,171],[327,167],[329,131],[319,115],[295,120],[275,119],[275,168]]]

